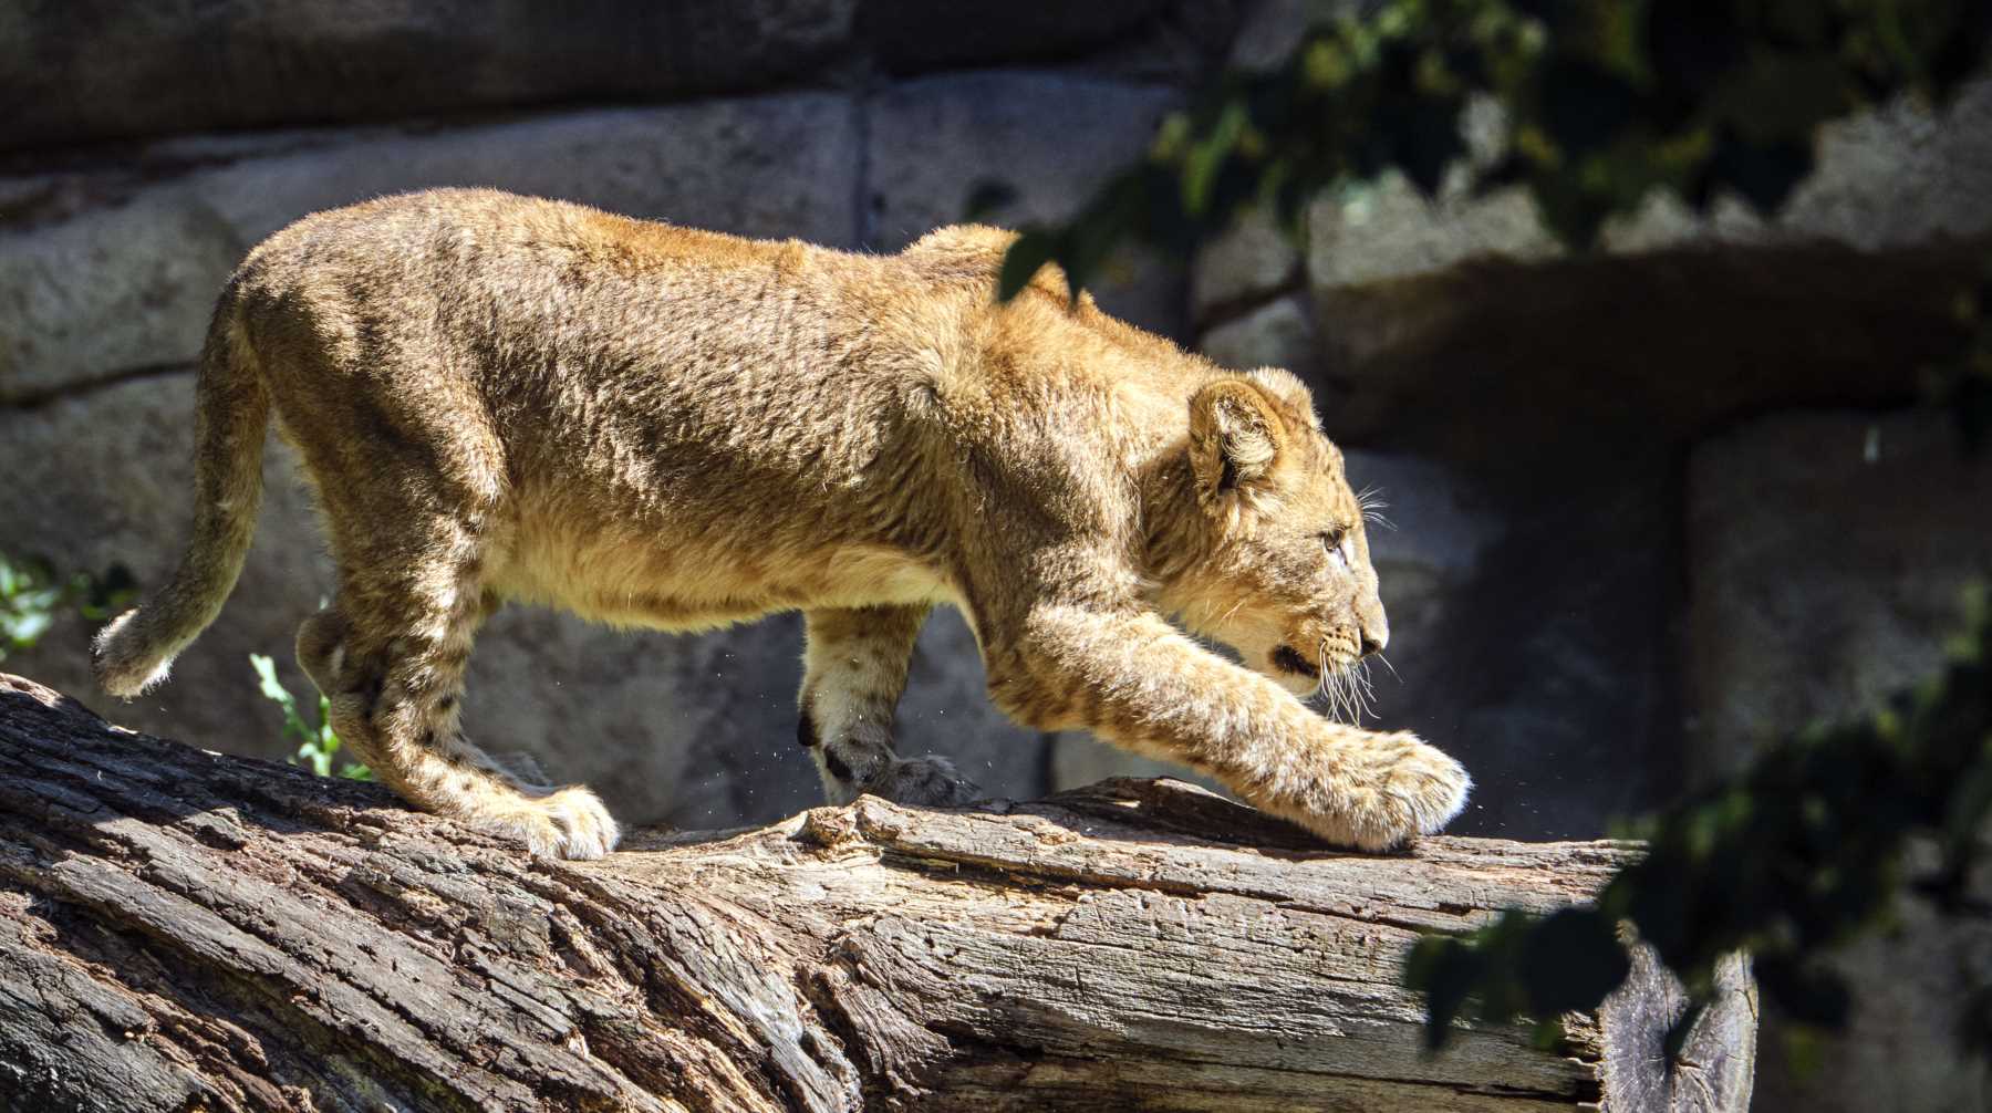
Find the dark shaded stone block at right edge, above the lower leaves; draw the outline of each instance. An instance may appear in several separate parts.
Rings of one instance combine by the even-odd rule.
[[[1934,673],[1992,575],[1992,456],[1940,412],[1769,416],[1699,444],[1687,476],[1701,777]]]

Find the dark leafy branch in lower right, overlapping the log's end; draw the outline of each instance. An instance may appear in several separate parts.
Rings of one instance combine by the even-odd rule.
[[[1424,938],[1404,982],[1426,996],[1426,1037],[1444,1041],[1462,1013],[1538,1017],[1554,1039],[1566,1009],[1592,1009],[1623,982],[1618,924],[1681,978],[1695,1007],[1675,1025],[1673,1053],[1709,1000],[1715,964],[1751,954],[1763,994],[1787,1015],[1837,1027],[1847,986],[1819,956],[1882,924],[1910,890],[1944,914],[1992,914],[1970,896],[1992,818],[1992,605],[1968,595],[1968,629],[1942,675],[1898,693],[1865,723],[1783,741],[1741,777],[1683,800],[1635,834],[1647,854],[1621,870],[1592,908],[1548,918],[1504,912],[1464,938]],[[1908,846],[1928,838],[1936,864],[1910,872]],[[1992,994],[1974,998],[1960,1041],[1992,1055]]]

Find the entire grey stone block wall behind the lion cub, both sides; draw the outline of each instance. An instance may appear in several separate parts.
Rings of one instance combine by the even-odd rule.
[[[165,577],[211,299],[303,213],[498,185],[890,251],[1000,179],[996,221],[1058,217],[1227,52],[1277,56],[1309,6],[10,6],[0,550]],[[1470,117],[1474,157],[1498,153],[1490,121]],[[1986,197],[1992,82],[1942,115],[1902,104],[1831,127],[1771,221],[1655,199],[1570,257],[1526,197],[1456,179],[1432,203],[1386,177],[1321,197],[1299,245],[1247,221],[1187,273],[1129,253],[1102,299],[1219,362],[1313,380],[1353,482],[1382,488],[1396,526],[1374,536],[1382,721],[1474,771],[1458,830],[1594,836],[1926,669],[1958,585],[1992,569],[1984,464],[1902,412],[1992,245]],[[289,643],[331,569],[283,452],[267,480],[221,621],[175,683],[106,711],[281,755],[247,655],[309,691]],[[8,667],[90,693],[86,639],[66,621]],[[468,725],[633,822],[771,820],[817,798],[791,741],[799,649],[793,617],[665,637],[510,609],[472,657]],[[1159,769],[1002,721],[952,613],[920,639],[900,733],[1008,796]],[[1944,962],[1992,954],[1924,942]],[[1851,970],[1878,1003],[1849,1047],[1880,1051],[1769,1079],[1783,1105],[1765,1107],[1880,1107],[1904,1033],[1938,1039],[1914,994],[1954,970],[1861,974],[1896,954],[1872,950]],[[1930,1101],[1986,1101],[1980,1067],[1920,1061]]]

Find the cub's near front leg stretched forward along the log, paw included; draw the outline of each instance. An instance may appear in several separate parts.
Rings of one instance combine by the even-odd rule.
[[[1155,615],[1040,607],[990,653],[990,695],[1040,729],[1086,727],[1189,765],[1315,834],[1382,850],[1466,806],[1466,769],[1406,733],[1309,711]]]

